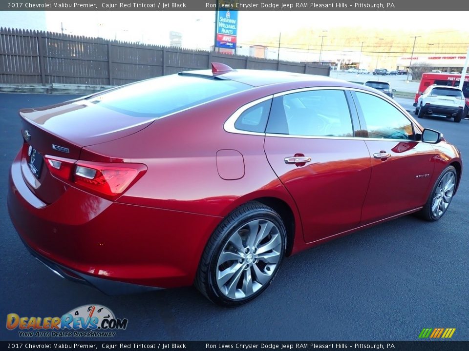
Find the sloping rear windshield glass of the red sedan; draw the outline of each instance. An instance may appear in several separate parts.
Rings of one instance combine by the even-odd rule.
[[[130,116],[162,117],[249,88],[233,80],[176,74],[126,85],[89,101]]]

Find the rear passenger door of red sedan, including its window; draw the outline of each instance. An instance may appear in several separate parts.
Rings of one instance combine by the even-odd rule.
[[[306,242],[360,222],[371,161],[365,142],[354,137],[360,126],[347,99],[341,89],[311,88],[272,102],[264,150],[298,206]]]

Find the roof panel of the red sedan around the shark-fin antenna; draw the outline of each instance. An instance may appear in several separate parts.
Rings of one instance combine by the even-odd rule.
[[[235,80],[253,87],[278,83],[289,83],[292,81],[309,81],[313,85],[320,85],[322,83],[326,83],[325,85],[334,85],[334,82],[343,83],[343,81],[340,79],[329,78],[326,76],[270,70],[234,69],[221,74],[213,74],[212,70],[194,70],[181,72],[180,74],[185,76],[195,75],[199,77],[205,76],[207,78]]]

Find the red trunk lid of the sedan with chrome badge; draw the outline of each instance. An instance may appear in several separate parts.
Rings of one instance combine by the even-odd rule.
[[[20,116],[22,173],[31,191],[47,204],[57,200],[68,185],[52,176],[45,156],[74,162],[83,147],[126,137],[154,120],[109,111],[86,100],[23,109]]]

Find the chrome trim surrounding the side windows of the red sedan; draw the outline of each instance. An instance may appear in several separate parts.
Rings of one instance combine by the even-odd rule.
[[[256,135],[256,136],[268,136],[268,137],[296,137],[296,138],[308,138],[308,139],[353,139],[353,140],[387,140],[387,141],[400,141],[400,142],[420,142],[420,140],[409,140],[409,139],[386,139],[386,138],[370,138],[370,137],[327,137],[327,136],[302,136],[302,135],[290,135],[290,134],[273,134],[273,133],[258,133],[258,132],[248,132],[248,131],[243,131],[235,128],[235,122],[237,118],[248,108],[255,106],[258,103],[261,103],[263,101],[266,101],[271,98],[277,98],[280,96],[284,95],[289,95],[289,94],[294,94],[294,93],[302,93],[306,91],[314,91],[314,90],[349,90],[349,91],[355,91],[359,93],[365,93],[365,94],[370,94],[373,95],[377,98],[381,98],[382,100],[386,101],[387,103],[390,103],[392,106],[394,106],[397,110],[399,110],[412,124],[414,127],[414,131],[420,132],[422,134],[422,130],[419,128],[417,124],[413,121],[412,117],[410,114],[399,104],[397,104],[393,100],[388,100],[387,98],[381,96],[378,93],[370,92],[367,90],[362,90],[359,88],[350,88],[350,87],[338,87],[338,86],[320,86],[320,87],[308,87],[308,88],[298,88],[298,89],[293,89],[293,90],[286,90],[284,92],[280,93],[275,93],[273,95],[269,95],[264,98],[259,98],[254,101],[251,101],[247,103],[246,105],[241,106],[239,109],[237,109],[225,122],[223,125],[223,129],[228,132],[228,133],[234,133],[234,134],[247,134],[247,135]]]

